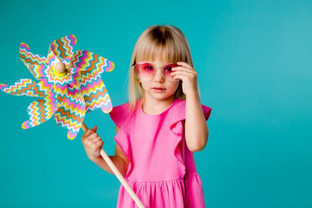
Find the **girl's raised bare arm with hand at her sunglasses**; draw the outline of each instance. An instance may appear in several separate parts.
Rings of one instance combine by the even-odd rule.
[[[208,126],[201,107],[198,87],[197,72],[185,62],[177,62],[177,67],[172,68],[174,78],[182,80],[182,90],[186,95],[185,112],[185,140],[188,149],[198,152],[205,148],[208,141]]]

